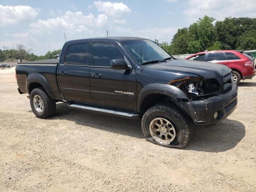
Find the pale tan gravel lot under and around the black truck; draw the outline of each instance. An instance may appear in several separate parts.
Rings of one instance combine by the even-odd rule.
[[[222,123],[185,150],[147,142],[140,121],[68,109],[38,119],[14,73],[0,74],[0,191],[256,191],[256,78]]]

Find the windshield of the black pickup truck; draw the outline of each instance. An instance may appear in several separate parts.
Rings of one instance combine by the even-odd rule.
[[[141,52],[142,63],[152,60],[164,60],[170,57],[168,53],[151,40],[129,40],[121,43],[137,63],[140,63]]]

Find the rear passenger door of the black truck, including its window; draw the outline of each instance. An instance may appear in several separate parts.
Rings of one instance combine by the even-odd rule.
[[[58,67],[58,84],[67,101],[92,103],[89,80],[90,46],[89,42],[70,44],[66,49],[64,62]]]

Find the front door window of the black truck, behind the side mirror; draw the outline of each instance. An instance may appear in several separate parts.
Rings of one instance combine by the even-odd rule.
[[[114,44],[105,42],[93,43],[94,66],[110,67],[110,62],[113,59],[124,59],[124,55]]]

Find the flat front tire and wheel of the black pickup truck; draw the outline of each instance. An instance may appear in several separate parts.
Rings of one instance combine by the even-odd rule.
[[[142,132],[148,141],[155,144],[184,148],[188,144],[191,124],[177,106],[160,103],[143,115]]]

